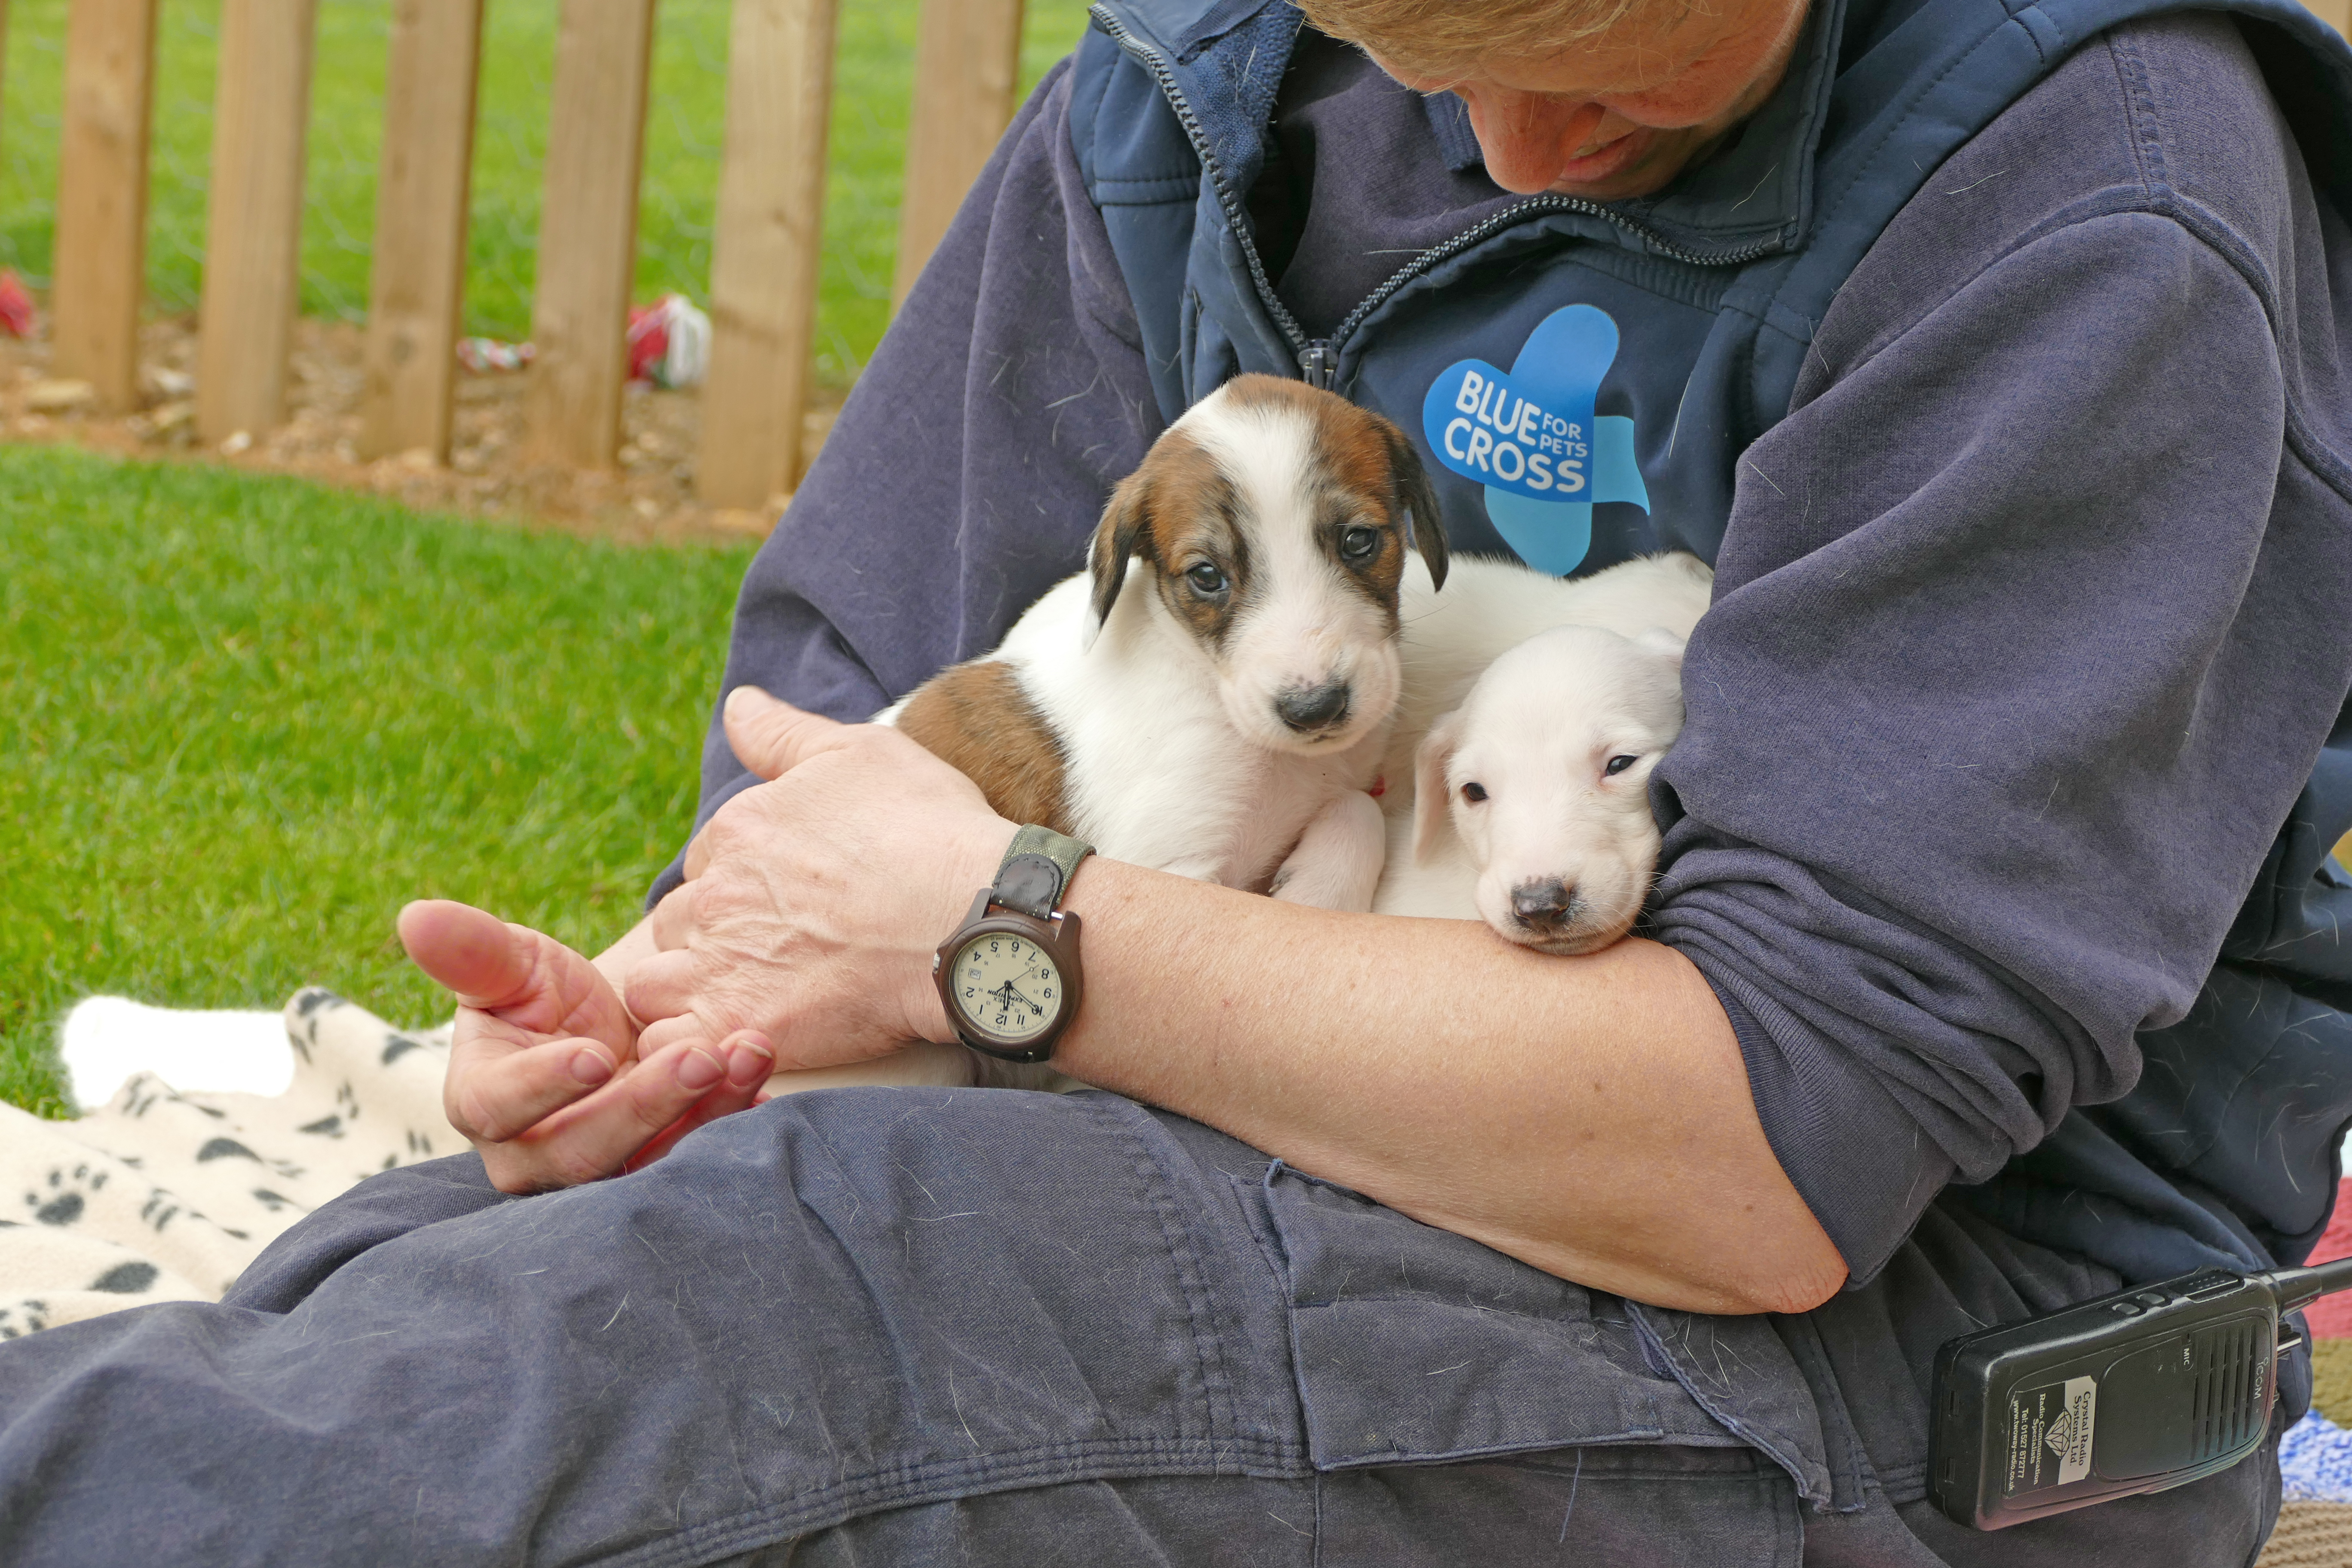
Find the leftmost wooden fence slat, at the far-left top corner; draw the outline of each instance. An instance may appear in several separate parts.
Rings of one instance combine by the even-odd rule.
[[[87,381],[108,409],[139,402],[153,120],[155,0],[73,0],[49,261],[49,374]]]

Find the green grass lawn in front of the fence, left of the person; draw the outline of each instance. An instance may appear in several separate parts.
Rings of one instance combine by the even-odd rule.
[[[626,931],[748,552],[0,447],[0,1100],[64,1114],[87,992],[440,1018],[407,898]]]

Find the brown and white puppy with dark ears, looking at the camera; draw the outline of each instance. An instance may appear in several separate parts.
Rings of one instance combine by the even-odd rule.
[[[1101,853],[1371,907],[1397,595],[1446,541],[1411,442],[1275,376],[1195,404],[1110,496],[1087,571],[887,710],[1007,818]]]

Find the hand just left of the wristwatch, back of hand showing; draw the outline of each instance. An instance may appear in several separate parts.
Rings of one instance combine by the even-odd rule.
[[[659,957],[628,978],[640,1053],[760,1030],[779,1070],[953,1041],[931,954],[995,879],[1014,825],[887,724],[837,724],[757,686],[727,696],[727,743],[769,783],[687,849],[654,910]]]

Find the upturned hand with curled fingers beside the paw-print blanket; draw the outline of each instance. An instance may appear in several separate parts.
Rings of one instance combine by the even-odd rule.
[[[416,966],[456,992],[442,1107],[501,1192],[635,1171],[694,1128],[760,1100],[776,1063],[753,1030],[713,1051],[637,1058],[637,1020],[597,969],[550,936],[440,898],[400,912]]]

